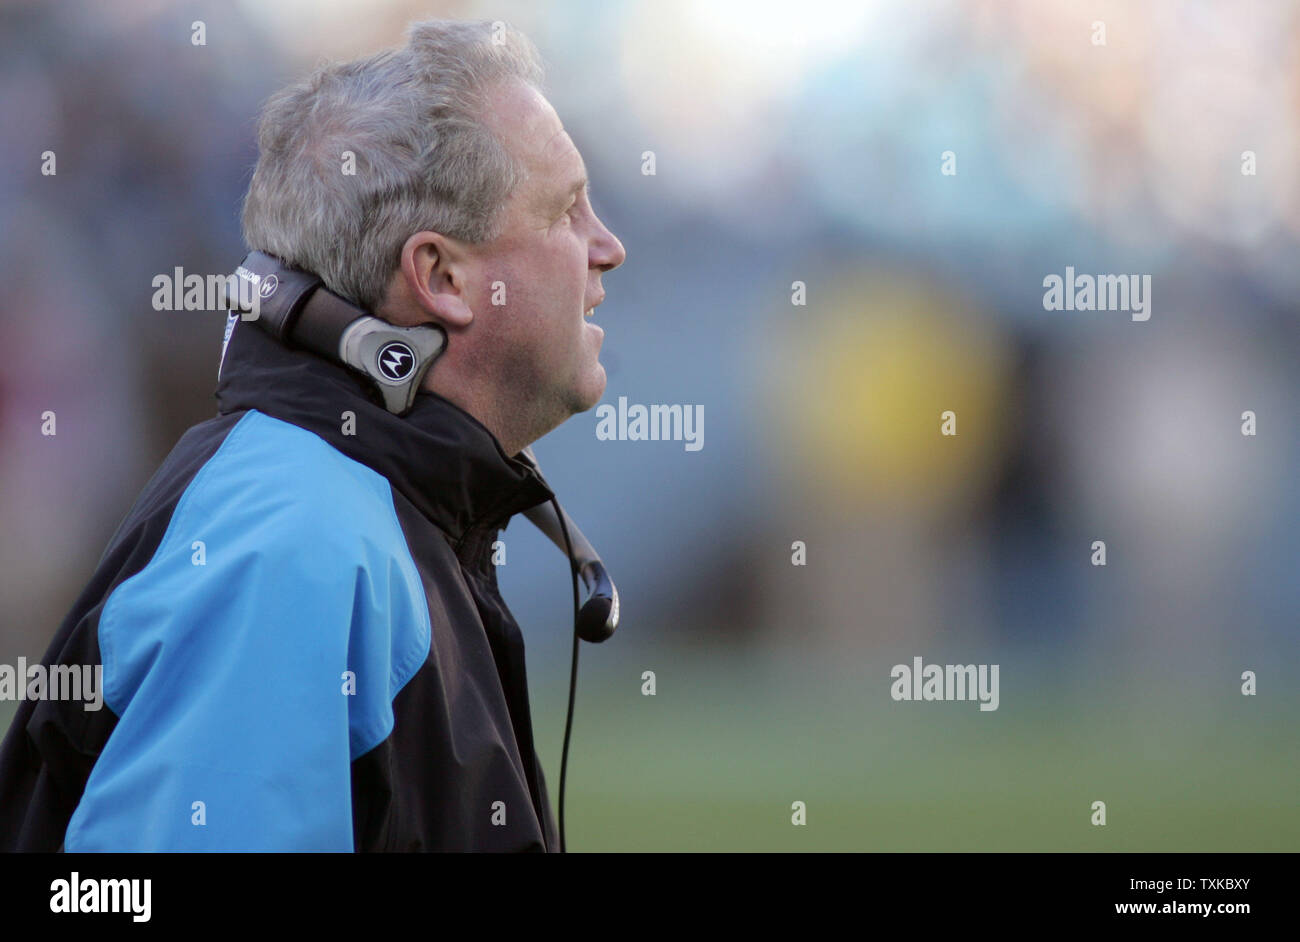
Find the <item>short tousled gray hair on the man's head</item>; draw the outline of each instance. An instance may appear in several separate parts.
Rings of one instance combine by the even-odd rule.
[[[277,92],[244,197],[248,248],[374,311],[413,233],[497,238],[524,170],[484,125],[485,95],[510,79],[542,87],[523,32],[434,19],[412,23],[402,48],[322,66]]]

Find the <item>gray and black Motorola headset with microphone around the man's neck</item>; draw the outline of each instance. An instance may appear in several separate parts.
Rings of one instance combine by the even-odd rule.
[[[368,378],[395,416],[415,405],[425,374],[446,350],[447,335],[437,325],[398,327],[325,287],[318,275],[285,264],[265,252],[250,252],[226,279],[226,301],[273,338],[315,353]],[[520,459],[541,477],[532,447]],[[543,478],[545,479],[545,478]],[[524,512],[569,560],[573,582],[573,657],[569,674],[564,752],[560,760],[560,851],[564,852],[564,785],[568,772],[573,694],[577,686],[578,638],[608,641],[619,626],[619,590],[592,543],[554,498]],[[588,599],[578,604],[581,578]]]

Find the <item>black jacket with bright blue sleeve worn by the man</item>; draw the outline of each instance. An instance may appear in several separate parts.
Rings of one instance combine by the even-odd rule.
[[[0,848],[558,850],[491,564],[551,498],[536,468],[248,324],[217,400],[42,661],[84,665],[81,698],[29,669]]]

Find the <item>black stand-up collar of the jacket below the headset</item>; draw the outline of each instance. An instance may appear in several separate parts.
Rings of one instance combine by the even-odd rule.
[[[222,414],[256,409],[315,433],[387,478],[458,543],[554,496],[534,465],[507,456],[495,435],[450,400],[421,391],[411,412],[394,416],[372,399],[367,379],[242,321],[234,322],[216,395]],[[342,430],[346,411],[356,414],[354,435]]]

